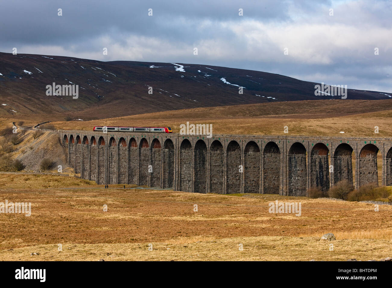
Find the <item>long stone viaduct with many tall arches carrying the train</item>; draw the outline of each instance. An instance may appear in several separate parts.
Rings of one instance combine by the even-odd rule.
[[[312,187],[328,190],[342,180],[354,188],[392,185],[392,138],[59,133],[69,165],[98,184],[289,196],[307,196]]]

